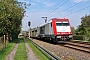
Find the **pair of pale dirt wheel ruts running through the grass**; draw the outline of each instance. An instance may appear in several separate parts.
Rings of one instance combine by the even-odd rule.
[[[38,60],[38,58],[33,53],[33,51],[29,47],[29,45],[26,42],[26,40],[24,40],[24,42],[25,42],[25,47],[26,47],[26,52],[27,52],[27,60]],[[5,60],[14,60],[14,56],[15,56],[15,53],[16,53],[16,51],[18,49],[18,45],[19,45],[19,43],[16,43],[14,49],[10,52],[10,54],[8,54],[8,56],[6,57]]]

